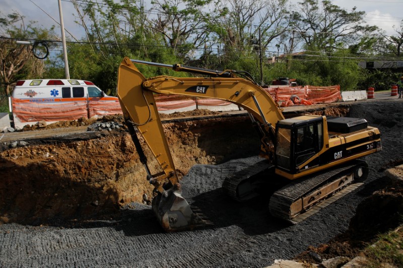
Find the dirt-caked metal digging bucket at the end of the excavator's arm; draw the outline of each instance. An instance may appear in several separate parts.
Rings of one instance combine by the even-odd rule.
[[[162,228],[166,232],[175,232],[211,225],[203,215],[193,212],[181,193],[180,184],[175,184],[153,199],[153,211]]]

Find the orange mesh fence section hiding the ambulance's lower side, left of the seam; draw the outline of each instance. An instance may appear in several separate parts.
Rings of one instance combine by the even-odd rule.
[[[12,98],[13,114],[20,122],[60,121],[87,118],[87,102],[31,103]]]

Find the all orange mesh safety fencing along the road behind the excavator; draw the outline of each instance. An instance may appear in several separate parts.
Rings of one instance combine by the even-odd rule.
[[[333,103],[342,99],[340,85],[334,86],[299,86],[299,87],[269,87],[264,88],[272,98],[287,107],[291,104],[290,98],[295,95],[301,100],[301,105],[318,103]],[[231,103],[210,98],[189,98],[182,95],[155,95],[157,109],[159,111],[175,110],[193,105],[225,106]],[[304,101],[303,101],[304,100]],[[49,102],[35,103],[29,100],[12,98],[13,112],[21,122],[32,121],[60,121],[77,120],[81,117],[104,116],[121,114],[122,110],[118,101],[83,101],[83,102]]]

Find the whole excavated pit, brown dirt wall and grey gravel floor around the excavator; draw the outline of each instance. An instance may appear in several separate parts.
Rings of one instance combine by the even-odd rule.
[[[365,244],[401,222],[402,186],[392,185],[385,170],[403,163],[402,110],[396,98],[284,112],[365,118],[382,140],[382,151],[364,157],[370,170],[363,186],[296,225],[268,213],[267,195],[237,203],[222,192],[226,174],[259,161],[247,116],[165,118],[183,197],[214,223],[169,234],[142,204],[152,187],[127,131],[86,132],[75,125],[91,122],[75,121],[0,136],[0,221],[8,223],[0,224],[0,266],[264,267],[309,248],[298,258],[312,261],[310,251],[354,257],[345,239],[321,244],[347,230]]]

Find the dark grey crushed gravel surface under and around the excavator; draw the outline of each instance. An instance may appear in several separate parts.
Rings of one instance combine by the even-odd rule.
[[[348,228],[357,205],[385,186],[383,170],[401,160],[403,101],[355,104],[350,117],[366,118],[381,131],[383,150],[366,157],[368,180],[361,188],[291,225],[268,213],[268,197],[236,203],[222,194],[229,172],[260,161],[236,159],[194,165],[183,178],[183,196],[214,222],[194,231],[163,233],[151,207],[132,204],[117,220],[78,225],[0,226],[1,267],[263,267],[290,259],[309,245],[325,243]]]

